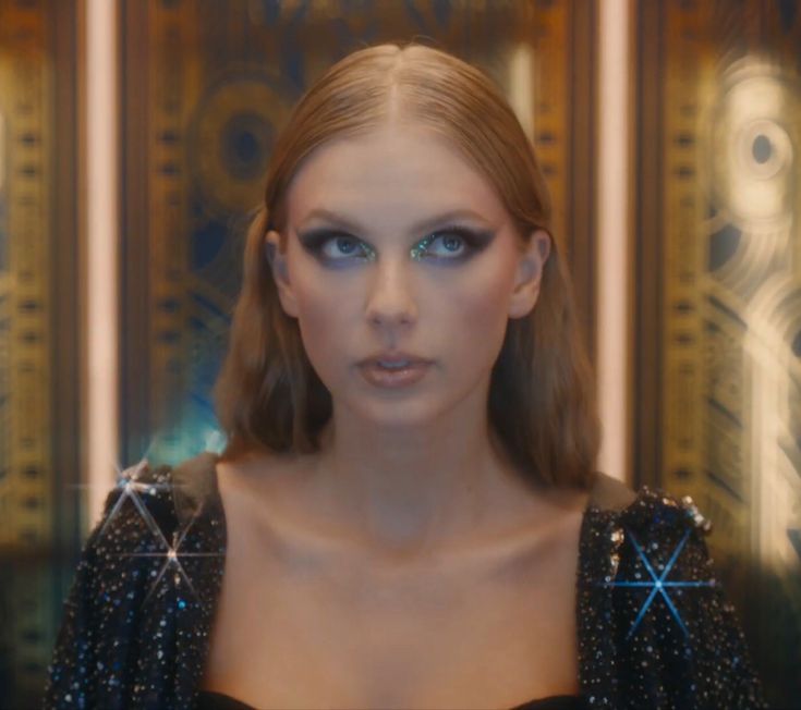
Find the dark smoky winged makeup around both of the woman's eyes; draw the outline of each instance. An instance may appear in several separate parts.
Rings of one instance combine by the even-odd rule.
[[[454,253],[453,256],[438,256],[436,254],[427,256],[433,252],[433,245],[448,242],[448,237],[453,236],[461,240],[459,253]],[[462,262],[480,253],[494,237],[495,232],[491,230],[474,229],[466,224],[446,224],[428,232],[423,238],[410,245],[410,249],[418,249],[424,259],[445,264]],[[363,257],[373,250],[368,243],[363,242],[357,236],[344,230],[327,227],[298,232],[298,238],[307,252],[325,262],[344,261],[351,256]],[[330,258],[323,254],[323,247],[330,240],[336,238],[343,240],[349,245],[349,253],[343,253],[338,258]],[[440,253],[442,252],[447,254],[447,249],[440,249]]]

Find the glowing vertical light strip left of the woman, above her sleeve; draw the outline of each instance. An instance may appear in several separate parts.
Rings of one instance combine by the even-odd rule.
[[[94,525],[118,453],[117,0],[86,0],[86,483]]]

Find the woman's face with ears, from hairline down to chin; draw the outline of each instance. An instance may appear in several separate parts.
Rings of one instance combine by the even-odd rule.
[[[521,252],[485,178],[408,125],[320,146],[287,199],[287,252],[266,237],[274,276],[335,413],[424,426],[468,397],[486,402],[508,319],[536,303],[547,233]],[[432,364],[413,384],[377,387],[359,363],[385,351]]]

